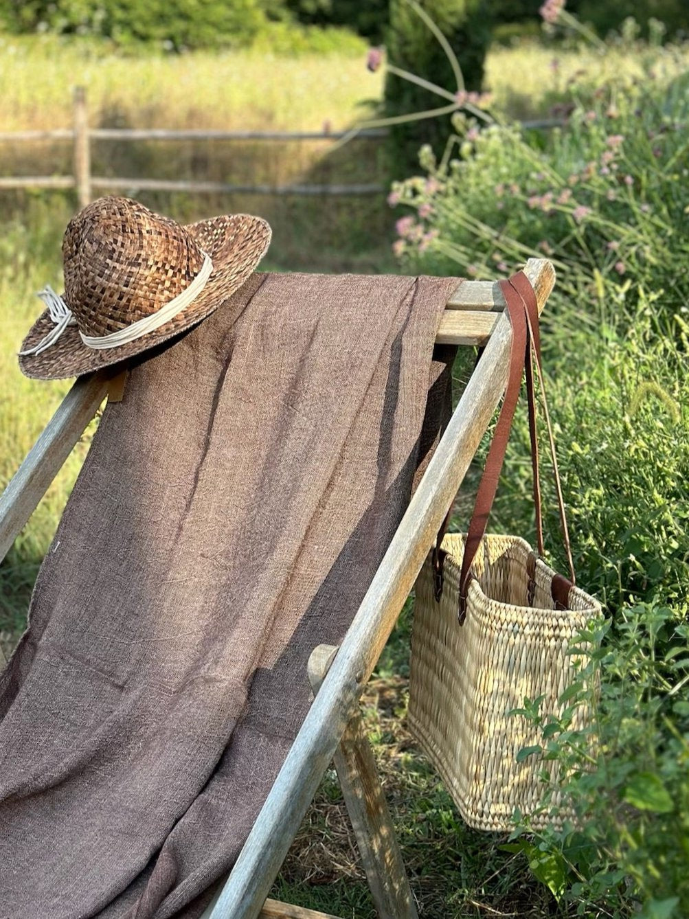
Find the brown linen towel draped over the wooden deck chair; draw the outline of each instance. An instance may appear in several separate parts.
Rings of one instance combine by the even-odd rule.
[[[254,275],[132,369],[0,675],[3,919],[209,902],[433,448],[456,285]]]

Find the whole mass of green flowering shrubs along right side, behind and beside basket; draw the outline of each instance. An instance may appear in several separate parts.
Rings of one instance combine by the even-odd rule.
[[[390,195],[412,209],[395,250],[414,271],[494,278],[530,255],[558,270],[548,396],[579,581],[610,619],[593,761],[566,722],[543,725],[580,823],[536,838],[522,824],[513,847],[561,914],[592,919],[689,914],[687,86],[650,68],[581,84],[548,136],[456,115],[445,153],[424,147],[424,175]],[[522,412],[492,528],[533,541],[530,488]],[[566,570],[552,489],[545,504]],[[539,717],[534,700],[525,710]]]

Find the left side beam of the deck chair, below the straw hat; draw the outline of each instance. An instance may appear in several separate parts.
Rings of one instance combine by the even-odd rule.
[[[108,382],[104,371],[74,383],[0,495],[0,562],[96,414]]]

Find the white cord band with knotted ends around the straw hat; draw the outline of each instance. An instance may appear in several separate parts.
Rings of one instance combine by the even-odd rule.
[[[84,333],[80,331],[79,335],[81,335],[81,339],[85,346],[95,348],[96,350],[119,347],[126,345],[128,342],[135,341],[137,338],[141,338],[142,335],[148,335],[149,332],[153,332],[155,329],[160,328],[161,325],[168,323],[178,312],[185,310],[206,286],[206,281],[209,279],[210,272],[213,270],[213,263],[210,260],[210,256],[205,252],[203,256],[203,265],[196,278],[194,278],[191,284],[189,284],[182,293],[177,294],[173,300],[165,303],[160,310],[152,312],[150,316],[144,316],[143,319],[138,319],[135,323],[131,323],[123,329],[118,329],[117,332],[111,332],[109,335],[84,335]],[[58,296],[51,287],[46,285],[37,296],[39,296],[48,307],[48,311],[51,314],[51,320],[55,323],[55,327],[51,329],[48,335],[41,338],[38,345],[27,348],[26,351],[20,351],[20,355],[40,354],[41,351],[45,351],[46,348],[55,344],[68,325],[76,324],[76,320],[70,308],[62,300],[62,297]]]

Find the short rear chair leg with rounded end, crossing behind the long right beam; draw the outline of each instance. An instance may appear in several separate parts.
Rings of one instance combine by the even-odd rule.
[[[337,648],[330,644],[320,644],[311,652],[308,669],[314,693],[336,653]],[[418,919],[388,802],[358,709],[344,729],[333,764],[378,919]]]

